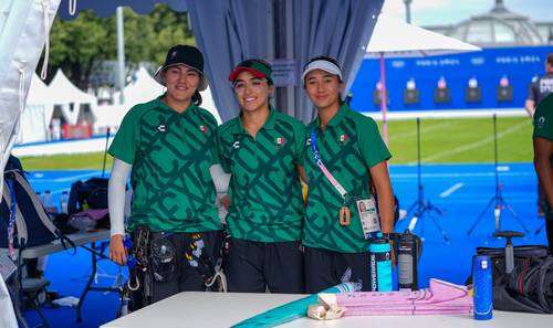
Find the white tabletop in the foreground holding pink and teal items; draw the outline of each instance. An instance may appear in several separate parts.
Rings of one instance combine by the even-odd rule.
[[[101,328],[230,327],[302,297],[305,295],[185,292],[107,322]],[[486,321],[474,320],[471,315],[344,317],[331,321],[300,318],[281,327],[551,328],[553,316],[494,311],[493,319]]]

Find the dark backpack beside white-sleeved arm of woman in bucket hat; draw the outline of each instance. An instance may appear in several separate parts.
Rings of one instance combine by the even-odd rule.
[[[67,202],[69,214],[79,213],[85,209],[107,209],[107,182],[105,178],[91,178],[71,184]]]

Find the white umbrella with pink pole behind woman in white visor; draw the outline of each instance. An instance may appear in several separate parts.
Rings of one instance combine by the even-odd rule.
[[[383,136],[388,141],[388,127],[386,120],[386,70],[384,57],[422,57],[430,55],[444,55],[482,49],[431,32],[404,21],[380,14],[376,22],[371,41],[367,44],[365,57],[380,59],[380,83],[382,99],[380,110],[383,115]]]

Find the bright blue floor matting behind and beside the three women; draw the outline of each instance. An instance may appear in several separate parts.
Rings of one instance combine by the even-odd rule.
[[[534,234],[544,224],[538,218],[536,177],[532,163],[507,163],[498,167],[500,188],[503,198],[513,213],[504,210],[501,216],[503,230],[523,231],[521,223],[529,230],[525,237],[515,239],[514,244],[545,244],[545,231]],[[442,214],[429,213],[418,220],[415,232],[424,237],[424,251],[419,264],[419,282],[428,285],[430,277],[442,278],[462,284],[470,274],[470,258],[477,246],[503,246],[503,240],[491,236],[494,231],[493,209],[487,204],[495,194],[493,165],[425,165],[421,168],[424,199],[436,205]],[[36,171],[29,176],[35,191],[50,190],[58,203],[63,190],[69,191],[76,179],[100,176],[101,171]],[[392,166],[392,182],[403,209],[409,209],[417,200],[417,167]],[[494,204],[493,204],[494,205]],[[480,213],[482,219],[473,225]],[[396,231],[403,231],[410,218],[401,220]],[[520,221],[520,222],[519,222]],[[440,226],[448,242],[444,241]],[[98,283],[109,286],[113,276],[119,273],[116,265],[108,261],[100,263],[102,274]],[[46,277],[52,282],[50,289],[64,296],[80,297],[90,272],[90,255],[85,251],[77,254],[58,253],[50,256]],[[46,309],[52,327],[97,327],[113,320],[118,300],[115,293],[92,292],[83,307],[83,322],[75,322],[73,308]],[[25,314],[31,326],[39,322],[33,311]]]

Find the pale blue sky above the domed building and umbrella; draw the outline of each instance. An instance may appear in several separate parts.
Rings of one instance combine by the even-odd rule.
[[[504,0],[505,7],[533,21],[553,21],[553,0]],[[471,15],[490,11],[495,0],[413,0],[411,19],[416,25],[455,24]],[[405,20],[403,0],[385,0],[383,12]]]

